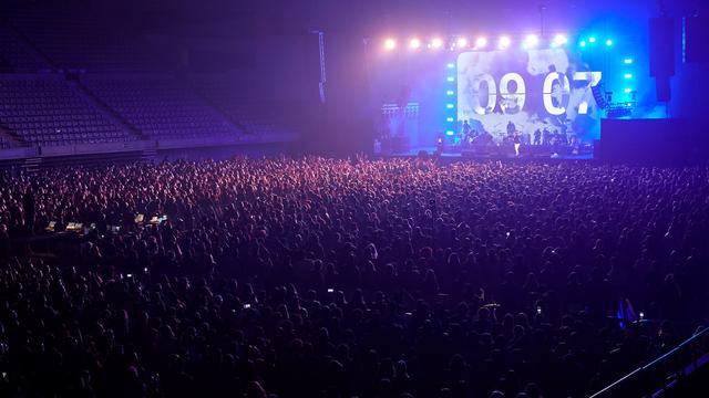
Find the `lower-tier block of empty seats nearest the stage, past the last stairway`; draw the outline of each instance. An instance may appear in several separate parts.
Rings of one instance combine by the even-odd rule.
[[[255,101],[254,96],[238,90],[239,83],[225,83],[217,76],[193,77],[195,90],[216,106],[229,119],[248,134],[284,133],[276,121],[277,112],[273,104]]]

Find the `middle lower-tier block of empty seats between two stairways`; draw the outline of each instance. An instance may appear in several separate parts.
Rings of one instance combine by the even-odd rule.
[[[150,138],[209,138],[240,132],[198,95],[169,77],[82,77],[83,84]]]

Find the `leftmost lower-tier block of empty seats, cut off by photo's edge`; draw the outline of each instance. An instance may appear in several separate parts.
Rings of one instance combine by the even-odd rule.
[[[58,75],[0,77],[0,124],[29,145],[132,139],[125,129],[76,94]]]

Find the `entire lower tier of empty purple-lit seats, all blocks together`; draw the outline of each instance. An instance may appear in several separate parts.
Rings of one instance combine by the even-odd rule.
[[[216,94],[209,97],[205,95],[208,92],[198,93],[168,76],[83,75],[80,84],[124,123],[152,139],[208,140],[281,132],[263,112],[250,111],[246,101],[230,101],[228,96],[215,101]],[[61,75],[0,76],[0,126],[31,145],[138,139],[85,94],[80,95],[81,90],[70,86]]]

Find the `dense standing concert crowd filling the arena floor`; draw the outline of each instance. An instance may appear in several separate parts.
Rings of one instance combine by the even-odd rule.
[[[3,397],[580,397],[706,322],[707,167],[0,176]]]

